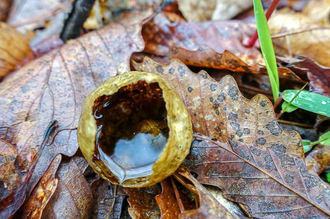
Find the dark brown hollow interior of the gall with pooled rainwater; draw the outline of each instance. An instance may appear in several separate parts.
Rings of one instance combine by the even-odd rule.
[[[169,134],[158,83],[138,81],[122,87],[96,99],[93,110],[98,126],[95,157],[119,183],[151,175]]]

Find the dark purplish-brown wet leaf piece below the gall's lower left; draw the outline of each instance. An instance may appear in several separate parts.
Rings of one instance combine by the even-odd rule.
[[[117,196],[120,186],[100,178],[91,185],[93,191],[93,219],[119,219],[125,196]]]

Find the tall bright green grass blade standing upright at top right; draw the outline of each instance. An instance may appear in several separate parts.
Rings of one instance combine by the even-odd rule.
[[[279,98],[279,93],[280,93],[279,73],[277,71],[277,64],[276,64],[273,43],[270,37],[268,24],[266,17],[264,15],[264,8],[261,3],[261,0],[253,0],[253,8],[254,8],[254,16],[257,24],[257,32],[258,32],[260,47],[264,56],[264,61],[266,63],[270,85],[272,86],[274,101],[276,101]]]

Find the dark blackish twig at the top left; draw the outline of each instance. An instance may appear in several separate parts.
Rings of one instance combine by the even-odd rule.
[[[72,3],[72,11],[69,14],[60,38],[66,42],[80,35],[83,23],[88,18],[95,0],[74,0]]]

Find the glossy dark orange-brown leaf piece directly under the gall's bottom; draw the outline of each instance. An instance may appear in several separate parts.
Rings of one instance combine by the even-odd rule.
[[[159,219],[161,212],[156,202],[155,196],[161,193],[159,184],[139,189],[125,188],[129,198],[130,207],[128,209],[133,219]]]

